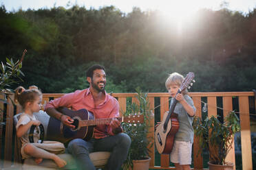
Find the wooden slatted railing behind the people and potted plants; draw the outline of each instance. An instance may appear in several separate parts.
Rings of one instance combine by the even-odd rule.
[[[43,104],[50,99],[56,99],[64,94],[60,93],[44,93]],[[113,93],[112,96],[118,99],[120,104],[120,114],[126,111],[127,99],[131,98],[132,102],[136,102],[136,93]],[[249,104],[253,104],[255,108],[256,100],[253,92],[220,92],[220,93],[189,93],[192,97],[195,108],[197,109],[196,115],[202,117],[202,106],[207,104],[208,116],[217,115],[219,112],[225,116],[228,112],[236,108],[239,112],[239,119],[241,124],[241,146],[242,146],[242,169],[253,169],[252,163],[252,149],[250,140],[250,115]],[[13,98],[13,95],[10,95]],[[162,119],[164,112],[169,110],[169,95],[168,93],[148,93],[149,102],[152,111],[155,113],[155,119],[151,120],[151,132],[148,134],[153,138],[154,125],[156,121]],[[4,110],[1,114],[1,121],[5,121],[5,125],[0,127],[0,158],[1,167],[14,166],[16,159],[15,141],[13,138],[13,116],[16,113],[21,112],[20,108],[16,108],[12,105],[12,101],[8,99],[8,104],[0,103],[0,108]],[[151,141],[154,143],[154,141]],[[226,160],[235,164],[235,147],[229,152]],[[203,167],[203,157],[198,154],[198,138],[195,138],[193,144],[193,169],[206,169]],[[175,169],[170,167],[169,155],[160,155],[160,165],[155,165],[156,151],[155,147],[150,148],[150,169]],[[14,156],[13,154],[14,153]],[[234,167],[235,169],[235,167]]]

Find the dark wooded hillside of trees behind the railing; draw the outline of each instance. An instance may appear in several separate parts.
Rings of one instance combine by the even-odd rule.
[[[156,11],[114,6],[19,10],[0,7],[0,58],[18,60],[23,49],[24,82],[43,93],[88,86],[85,70],[107,69],[107,92],[166,92],[173,71],[195,72],[192,91],[244,91],[256,87],[256,9],[243,14],[202,9],[195,20],[164,21]],[[14,86],[13,88],[15,88]]]

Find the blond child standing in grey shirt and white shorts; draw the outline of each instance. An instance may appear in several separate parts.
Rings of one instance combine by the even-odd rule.
[[[174,112],[178,114],[180,127],[175,134],[173,149],[170,154],[171,162],[174,163],[177,170],[190,169],[194,136],[192,123],[195,115],[195,106],[193,105],[193,100],[187,95],[187,90],[177,94],[183,80],[184,77],[179,73],[171,73],[165,82],[168,93],[172,97],[170,107],[173,104],[173,98],[178,100]]]

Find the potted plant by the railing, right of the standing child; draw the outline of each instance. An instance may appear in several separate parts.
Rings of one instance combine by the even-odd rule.
[[[215,169],[213,167],[233,169],[233,163],[226,162],[225,159],[232,148],[235,133],[240,130],[239,119],[235,112],[229,112],[223,123],[218,116],[206,117],[203,121],[200,117],[195,117],[193,127],[195,136],[200,137],[200,148],[209,151],[209,169]]]

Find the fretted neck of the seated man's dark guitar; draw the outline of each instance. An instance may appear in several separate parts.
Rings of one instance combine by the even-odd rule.
[[[81,126],[91,126],[91,125],[109,125],[110,122],[115,118],[104,118],[104,119],[91,119],[80,121]],[[116,117],[118,121],[122,122],[123,117]]]

